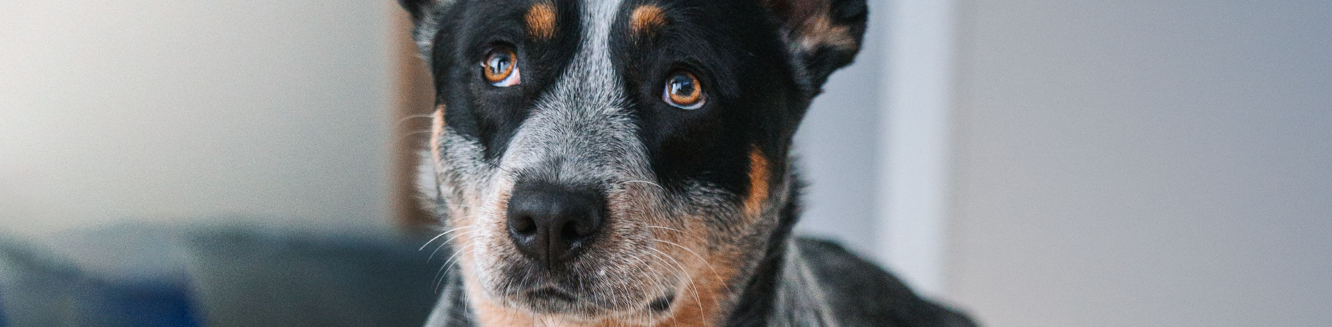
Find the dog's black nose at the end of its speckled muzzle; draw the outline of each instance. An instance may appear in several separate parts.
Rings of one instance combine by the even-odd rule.
[[[527,258],[555,267],[591,243],[606,199],[593,189],[519,183],[509,198],[509,237]]]

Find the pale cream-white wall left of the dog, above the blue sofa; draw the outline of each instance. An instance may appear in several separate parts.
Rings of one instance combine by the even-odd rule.
[[[0,230],[382,223],[388,1],[0,1]]]

